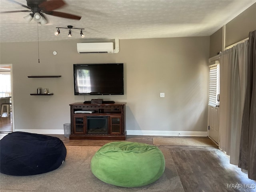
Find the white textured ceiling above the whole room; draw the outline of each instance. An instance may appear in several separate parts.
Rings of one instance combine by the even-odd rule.
[[[26,5],[26,0],[16,0]],[[0,14],[0,42],[70,40],[68,29],[85,28],[86,40],[210,36],[256,0],[65,0],[56,11],[82,16],[72,20],[47,15],[48,24],[25,22],[30,12]],[[0,0],[0,12],[26,10],[11,0]],[[39,34],[39,36],[37,35]],[[72,39],[80,38],[72,30]]]

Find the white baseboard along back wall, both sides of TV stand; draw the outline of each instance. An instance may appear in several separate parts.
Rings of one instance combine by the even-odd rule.
[[[61,129],[15,129],[15,131],[37,133],[37,134],[58,134],[64,135]],[[127,135],[150,135],[150,136],[201,136],[206,137],[207,131],[151,131],[151,130],[126,130]]]

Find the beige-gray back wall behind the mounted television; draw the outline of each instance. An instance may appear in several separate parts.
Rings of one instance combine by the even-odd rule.
[[[210,37],[120,40],[118,54],[78,54],[76,43],[39,42],[40,63],[37,42],[0,44],[0,63],[13,66],[16,130],[63,132],[63,124],[70,122],[69,104],[102,98],[127,102],[128,134],[207,131]],[[73,64],[111,62],[124,63],[123,96],[74,96]],[[54,95],[30,96],[37,87]]]

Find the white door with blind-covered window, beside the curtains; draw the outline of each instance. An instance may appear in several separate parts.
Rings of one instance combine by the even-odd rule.
[[[219,129],[219,62],[209,66],[208,91],[208,136],[217,144],[220,138]]]

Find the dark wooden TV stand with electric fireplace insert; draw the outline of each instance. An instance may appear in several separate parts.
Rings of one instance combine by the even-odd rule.
[[[125,140],[125,105],[126,103],[70,104],[69,139]]]

